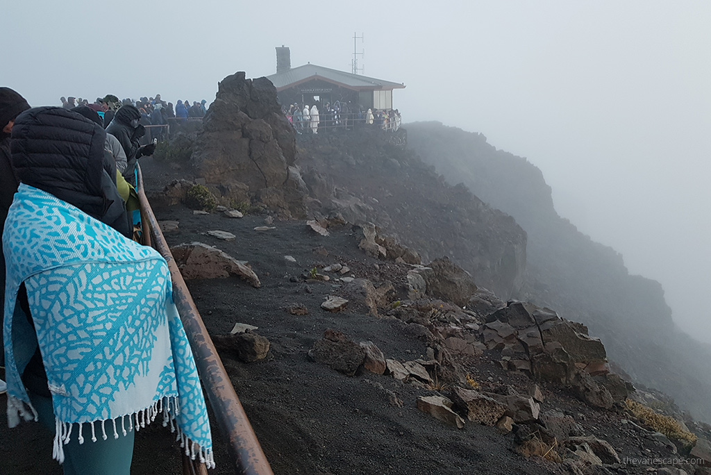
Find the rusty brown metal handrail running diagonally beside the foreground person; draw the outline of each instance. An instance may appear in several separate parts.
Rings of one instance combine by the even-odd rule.
[[[148,198],[146,198],[140,167],[138,167],[137,191],[141,203],[141,219],[149,227],[149,230],[144,230],[144,233],[151,236],[154,249],[160,252],[168,262],[173,279],[173,300],[178,307],[183,327],[185,327],[188,341],[190,341],[198,373],[203,382],[205,393],[208,395],[210,406],[215,412],[220,429],[229,439],[228,450],[235,465],[235,474],[274,475],[237,393],[235,393],[235,388],[232,387],[227,371],[220,361],[213,341],[205,329],[205,324],[203,324],[203,319],[195,306],[193,297],[188,292],[188,287],[175,259],[173,259],[168,243],[161,233],[156,216]]]

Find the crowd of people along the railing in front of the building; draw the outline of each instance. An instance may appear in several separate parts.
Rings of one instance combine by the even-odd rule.
[[[340,101],[326,102],[326,105],[321,109],[321,102],[316,101],[309,108],[308,104],[292,104],[282,106],[282,112],[286,114],[289,122],[292,123],[296,133],[301,134],[309,132],[318,134],[319,129],[322,131],[329,129],[348,129],[358,127],[359,125],[368,125],[370,127],[379,127],[383,130],[397,131],[402,125],[402,116],[400,111],[395,110],[364,110],[360,105],[353,105],[351,102],[342,103]]]

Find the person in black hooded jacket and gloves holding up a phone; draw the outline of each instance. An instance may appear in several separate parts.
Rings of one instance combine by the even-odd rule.
[[[129,183],[135,183],[134,169],[141,156],[153,155],[155,144],[141,146],[139,141],[146,134],[146,127],[139,124],[141,112],[133,105],[123,105],[116,111],[114,119],[106,128],[106,132],[119,139],[126,154],[127,166],[123,176]]]

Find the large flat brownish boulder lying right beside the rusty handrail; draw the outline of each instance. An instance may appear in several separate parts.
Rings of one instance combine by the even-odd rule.
[[[171,254],[180,268],[183,279],[218,279],[237,275],[250,282],[252,287],[262,286],[259,277],[247,262],[236,260],[203,242],[177,245],[171,249]]]

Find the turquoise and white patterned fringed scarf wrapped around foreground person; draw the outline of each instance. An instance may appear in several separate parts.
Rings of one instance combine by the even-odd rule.
[[[118,438],[163,415],[186,454],[214,467],[205,400],[163,257],[24,184],[3,246],[10,427],[37,419],[20,379],[36,348],[16,309],[24,282],[52,393],[55,459],[63,461],[71,437]]]

